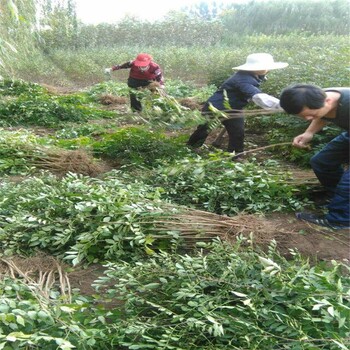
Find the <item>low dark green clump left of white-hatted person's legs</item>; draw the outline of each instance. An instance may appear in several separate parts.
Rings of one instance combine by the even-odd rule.
[[[122,164],[155,166],[161,159],[181,159],[190,152],[182,139],[167,137],[160,131],[145,127],[125,127],[105,134],[92,145],[96,155],[120,161]]]

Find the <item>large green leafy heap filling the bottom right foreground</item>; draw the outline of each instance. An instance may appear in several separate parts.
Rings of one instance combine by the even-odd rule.
[[[241,242],[241,244],[244,243]],[[193,255],[110,263],[96,286],[118,298],[127,349],[346,349],[347,266],[310,266],[216,242]],[[102,292],[102,290],[101,290]],[[118,316],[120,313],[118,313]],[[120,317],[120,316],[119,316]]]

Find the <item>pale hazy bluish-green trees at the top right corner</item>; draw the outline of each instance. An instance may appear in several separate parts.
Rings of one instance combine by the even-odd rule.
[[[347,0],[252,1],[234,5],[221,19],[230,34],[349,34]]]

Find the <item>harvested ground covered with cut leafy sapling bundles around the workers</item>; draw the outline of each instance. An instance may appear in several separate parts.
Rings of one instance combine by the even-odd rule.
[[[194,152],[213,89],[170,81],[132,113],[113,77],[2,82],[5,349],[344,348],[348,232],[294,215],[326,200],[287,141],[305,125],[248,109],[242,162],[211,146],[218,120]]]

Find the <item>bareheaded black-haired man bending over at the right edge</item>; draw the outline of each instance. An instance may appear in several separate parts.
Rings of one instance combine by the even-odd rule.
[[[306,148],[314,134],[328,122],[345,132],[330,141],[311,158],[311,166],[321,184],[332,194],[326,215],[301,212],[299,220],[333,229],[350,227],[349,219],[349,107],[350,88],[321,89],[314,85],[297,84],[285,88],[280,97],[281,107],[289,114],[311,121],[303,134],[293,140],[293,145]]]

